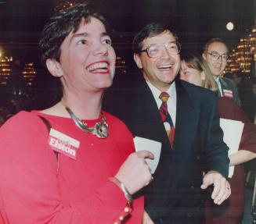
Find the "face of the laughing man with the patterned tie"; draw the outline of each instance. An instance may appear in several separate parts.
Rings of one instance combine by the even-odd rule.
[[[142,50],[151,44],[164,44],[175,41],[171,32],[165,31],[155,37],[148,37],[142,41]],[[180,57],[178,54],[170,54],[167,48],[161,48],[157,58],[150,58],[146,52],[134,55],[135,62],[139,69],[142,69],[145,80],[153,84],[160,91],[167,91],[178,73]]]

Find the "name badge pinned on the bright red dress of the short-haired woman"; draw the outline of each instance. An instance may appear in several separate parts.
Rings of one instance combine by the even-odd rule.
[[[77,152],[80,145],[78,140],[51,128],[48,143],[53,151],[77,159]]]

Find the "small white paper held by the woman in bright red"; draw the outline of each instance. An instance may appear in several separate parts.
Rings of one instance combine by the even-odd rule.
[[[133,142],[135,145],[135,151],[147,150],[153,153],[154,158],[146,158],[146,162],[150,166],[151,173],[154,173],[159,162],[162,144],[159,141],[150,140],[143,137],[134,137]]]

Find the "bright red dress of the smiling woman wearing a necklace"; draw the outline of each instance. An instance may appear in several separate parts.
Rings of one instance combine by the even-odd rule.
[[[76,160],[59,153],[59,171],[38,115],[80,142]],[[106,139],[83,132],[72,119],[40,112],[20,112],[1,127],[0,223],[119,223],[121,216],[125,223],[142,222],[143,198],[128,211],[123,192],[107,181],[134,151],[132,134],[119,119],[104,115]]]

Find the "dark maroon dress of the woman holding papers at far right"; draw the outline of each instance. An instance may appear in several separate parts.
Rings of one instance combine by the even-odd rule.
[[[244,123],[240,149],[256,153],[256,126],[251,123],[243,110],[230,98],[218,98],[219,116]],[[243,165],[236,165],[233,177],[229,179],[231,195],[221,205],[206,201],[207,224],[237,224],[243,216],[244,208],[244,171]]]

